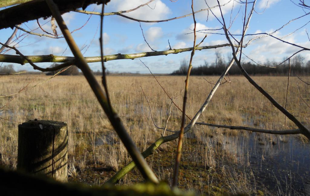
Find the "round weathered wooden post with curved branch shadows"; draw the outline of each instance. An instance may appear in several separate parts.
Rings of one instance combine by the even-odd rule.
[[[17,169],[66,182],[67,152],[66,123],[35,119],[18,126]]]

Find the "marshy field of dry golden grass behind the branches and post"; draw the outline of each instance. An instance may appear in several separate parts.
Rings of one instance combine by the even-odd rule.
[[[26,88],[32,87],[47,78],[49,77],[43,75],[2,76],[0,96],[18,92],[26,85]],[[205,78],[210,82],[217,80],[215,76]],[[176,93],[174,101],[181,107],[185,77],[158,76],[157,79],[170,96]],[[244,77],[233,76],[230,79],[231,83],[226,82],[216,91],[199,122],[275,130],[295,128],[288,119],[286,127],[285,116]],[[285,105],[287,77],[262,76],[254,79],[275,100]],[[309,77],[303,79],[310,81]],[[310,103],[310,86],[291,77],[287,109],[309,127],[307,121],[310,121],[310,108],[300,98],[297,83],[301,97]],[[162,130],[153,125],[148,103],[140,86],[149,97],[154,122],[159,127],[164,127],[170,100],[153,76],[108,76],[112,105],[139,149],[143,151],[161,136]],[[189,117],[193,117],[198,111],[212,87],[202,76],[190,78],[186,110]],[[69,181],[103,184],[131,160],[83,76],[57,76],[28,91],[0,98],[0,117],[1,164],[12,169],[16,168],[17,163],[18,124],[34,118],[67,122]],[[168,129],[179,130],[180,120],[181,112],[172,106]],[[297,144],[298,147],[295,147]],[[170,182],[175,147],[176,141],[165,143],[153,156],[147,158],[160,180]],[[294,159],[297,153],[300,154],[294,151],[295,148],[304,149],[302,152],[307,155],[309,147],[308,140],[299,135],[275,136],[196,125],[184,140],[179,186],[211,195],[237,192],[251,195],[303,194],[305,185],[303,188],[296,188],[294,180],[290,180],[292,178],[286,180],[285,177],[283,180],[281,174],[286,170],[293,173],[296,164],[298,168],[294,170],[295,173],[300,170],[303,173],[310,172],[309,165],[303,165],[309,156],[306,161],[303,159],[303,163]],[[288,155],[284,159],[278,159],[280,155],[277,153],[281,152]],[[279,168],[281,171],[268,173],[266,171],[272,165],[272,160],[284,160],[288,166],[284,164],[283,167],[286,168]],[[302,168],[308,168],[308,171]],[[269,181],[264,180],[266,175],[270,175]],[[307,184],[307,179],[303,176],[301,178]],[[120,183],[130,184],[142,180],[139,172],[133,170]],[[271,181],[272,187],[269,187]]]

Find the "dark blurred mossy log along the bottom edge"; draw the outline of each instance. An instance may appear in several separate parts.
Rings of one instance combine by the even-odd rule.
[[[89,186],[77,183],[60,183],[46,176],[33,176],[21,171],[11,171],[0,168],[0,189],[2,195],[21,196],[32,195],[74,195],[74,196],[139,196],[139,195],[172,195],[194,196],[194,192],[179,189],[171,190],[166,183],[135,184],[132,186],[104,185],[103,187]]]

